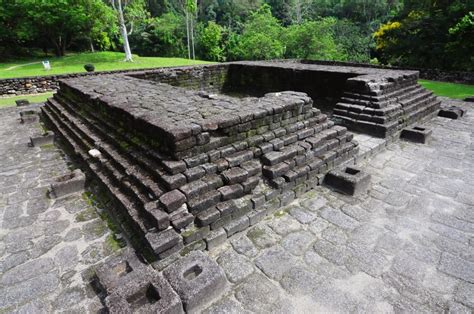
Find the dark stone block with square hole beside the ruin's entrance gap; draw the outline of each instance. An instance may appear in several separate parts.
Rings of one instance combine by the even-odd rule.
[[[346,167],[344,170],[330,171],[326,175],[324,183],[338,192],[359,195],[368,190],[370,174],[356,167]]]

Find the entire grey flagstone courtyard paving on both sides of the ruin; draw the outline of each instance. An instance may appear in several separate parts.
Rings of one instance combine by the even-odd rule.
[[[0,111],[0,312],[97,312],[82,277],[113,254],[110,231],[87,197],[46,198],[68,165],[27,147],[40,130],[17,118]],[[368,195],[319,187],[211,252],[229,285],[204,312],[471,313],[474,116],[426,126],[428,145],[396,142],[361,164]]]

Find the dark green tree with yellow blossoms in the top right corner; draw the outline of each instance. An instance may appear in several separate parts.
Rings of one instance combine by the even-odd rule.
[[[467,32],[456,31],[470,11],[472,1],[406,0],[404,10],[374,33],[378,59],[403,66],[472,69],[473,60],[466,57],[472,55],[470,26]]]

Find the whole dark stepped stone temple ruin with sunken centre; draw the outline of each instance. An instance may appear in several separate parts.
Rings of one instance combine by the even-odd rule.
[[[136,248],[163,260],[216,247],[353,163],[347,129],[392,138],[435,114],[417,79],[301,61],[165,68],[63,80],[42,111]]]

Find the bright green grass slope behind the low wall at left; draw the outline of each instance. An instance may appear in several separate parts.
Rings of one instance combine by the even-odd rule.
[[[182,66],[209,63],[206,61],[188,60],[182,58],[139,57],[134,55],[134,62],[124,62],[121,52],[77,53],[66,57],[36,57],[30,59],[12,60],[0,63],[0,79],[56,75],[65,73],[86,72],[84,65],[92,63],[96,71],[112,71],[125,69],[146,69],[166,66]],[[51,70],[43,69],[41,61],[49,60]]]

